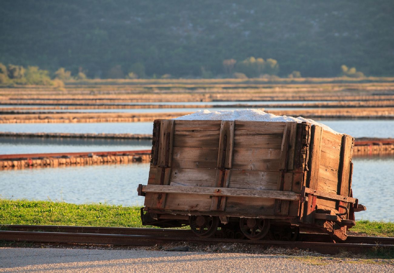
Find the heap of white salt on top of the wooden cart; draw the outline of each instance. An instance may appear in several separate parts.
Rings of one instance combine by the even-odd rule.
[[[199,110],[193,114],[180,116],[174,120],[239,120],[239,121],[256,121],[256,122],[308,122],[310,124],[318,125],[326,131],[330,131],[334,134],[340,134],[327,125],[315,122],[303,117],[288,117],[288,116],[276,116],[269,114],[258,109],[242,109],[242,110]]]

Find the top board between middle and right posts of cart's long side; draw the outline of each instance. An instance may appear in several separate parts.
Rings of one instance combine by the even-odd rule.
[[[258,134],[283,134],[284,122],[251,122],[237,121],[235,124],[236,136]]]

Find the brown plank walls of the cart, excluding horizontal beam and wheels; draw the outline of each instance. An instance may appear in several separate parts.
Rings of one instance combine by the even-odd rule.
[[[351,139],[307,123],[156,120],[148,185],[298,195],[306,185],[325,193],[346,195],[351,168],[350,162],[340,159],[351,150],[342,151],[341,147],[343,142],[351,148]],[[348,182],[340,184],[339,179]],[[304,208],[299,200],[275,198],[192,193],[145,196],[149,209],[183,214],[209,211],[211,215],[216,212],[238,217],[303,217],[311,221],[310,215],[316,208],[338,208],[337,201],[325,198],[310,198],[308,202]]]

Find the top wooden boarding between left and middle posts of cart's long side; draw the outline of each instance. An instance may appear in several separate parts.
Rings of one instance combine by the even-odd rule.
[[[174,147],[218,148],[220,121],[175,121]]]

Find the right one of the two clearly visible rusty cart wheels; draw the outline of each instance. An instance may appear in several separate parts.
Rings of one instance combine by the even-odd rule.
[[[242,233],[251,240],[259,240],[269,231],[269,219],[241,218],[240,228]]]

